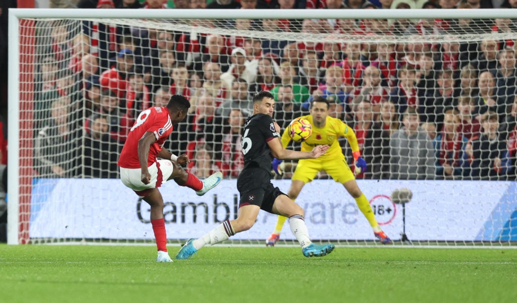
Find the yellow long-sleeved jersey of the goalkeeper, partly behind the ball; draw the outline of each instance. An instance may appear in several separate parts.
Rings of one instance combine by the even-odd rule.
[[[301,143],[302,151],[311,151],[317,145],[328,144],[330,148],[327,152],[319,157],[319,160],[328,160],[329,158],[336,158],[343,156],[343,151],[339,145],[338,138],[345,137],[348,144],[352,148],[352,152],[359,151],[359,145],[357,144],[357,138],[352,128],[346,125],[343,121],[337,118],[327,117],[327,121],[324,127],[318,128],[312,121],[312,116],[302,116],[301,118],[307,119],[312,125],[312,135]],[[282,134],[282,145],[284,148],[291,142],[291,137],[284,132]]]

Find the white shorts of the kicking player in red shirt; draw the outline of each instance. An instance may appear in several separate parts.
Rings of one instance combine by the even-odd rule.
[[[124,168],[120,167],[120,180],[124,185],[133,189],[139,196],[145,193],[146,189],[158,188],[171,177],[174,166],[170,160],[160,159],[157,163],[148,167],[151,174],[149,184],[142,182],[141,168]]]

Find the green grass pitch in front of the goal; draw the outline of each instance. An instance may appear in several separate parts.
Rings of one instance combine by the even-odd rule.
[[[174,258],[179,246],[170,246]],[[517,249],[0,245],[2,302],[515,302]]]

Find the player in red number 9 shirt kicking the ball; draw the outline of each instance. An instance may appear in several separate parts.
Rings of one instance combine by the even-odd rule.
[[[197,179],[180,166],[189,162],[186,154],[176,156],[163,149],[173,125],[185,120],[189,107],[187,98],[176,94],[167,106],[142,111],[131,127],[118,159],[122,183],[150,205],[150,220],[158,247],[156,262],[172,262],[166,248],[164,204],[158,187],[174,179],[178,185],[192,188],[198,196],[203,196],[222,179],[221,172],[203,181]]]

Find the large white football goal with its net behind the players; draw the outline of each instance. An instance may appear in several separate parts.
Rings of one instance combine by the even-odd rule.
[[[328,101],[325,115],[348,127],[336,138],[313,125],[313,139],[338,139],[354,171],[354,132],[368,164],[357,184],[394,242],[511,244],[511,11],[13,10],[9,243],[153,242],[149,206],[120,182],[116,162],[141,111],[165,106],[172,94],[191,107],[164,148],[187,153],[185,169],[200,179],[222,171],[224,180],[203,197],[173,181],[160,188],[170,241],[236,218],[241,127],[253,94],[265,90],[282,130],[310,115],[315,98]],[[327,171],[298,177],[314,179],[296,199],[311,237],[378,244],[355,199],[333,180],[349,173],[322,165]],[[282,167],[272,182],[287,193],[297,161]],[[261,212],[232,241],[262,244],[275,224]],[[280,239],[294,243],[288,227]]]

